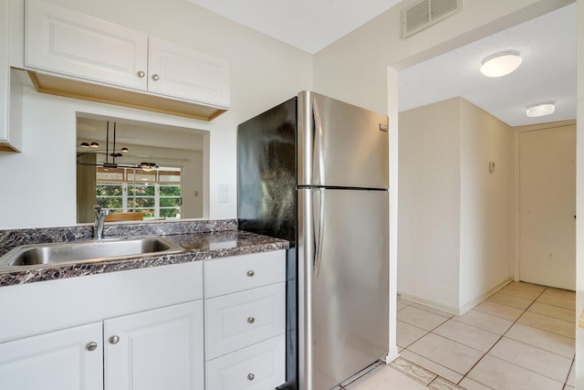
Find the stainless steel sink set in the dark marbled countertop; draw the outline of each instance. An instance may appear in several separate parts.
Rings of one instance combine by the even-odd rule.
[[[118,258],[165,255],[183,248],[162,237],[110,238],[53,244],[23,245],[0,258],[0,269],[67,263],[91,263]]]

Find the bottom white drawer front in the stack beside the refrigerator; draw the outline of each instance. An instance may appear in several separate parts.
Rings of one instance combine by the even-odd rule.
[[[206,390],[266,390],[286,381],[285,335],[205,364]]]

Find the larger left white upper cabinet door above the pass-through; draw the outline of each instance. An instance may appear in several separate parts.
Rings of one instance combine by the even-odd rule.
[[[38,0],[26,1],[25,66],[146,90],[148,36]]]

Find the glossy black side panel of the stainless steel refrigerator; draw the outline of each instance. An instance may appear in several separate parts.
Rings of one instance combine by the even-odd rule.
[[[239,229],[286,239],[286,380],[297,390],[297,98],[237,127]]]

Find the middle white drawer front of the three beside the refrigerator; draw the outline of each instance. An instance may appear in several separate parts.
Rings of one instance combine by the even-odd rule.
[[[204,301],[205,360],[286,332],[286,283]]]

